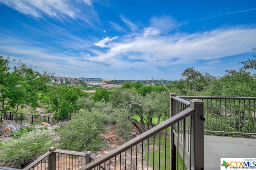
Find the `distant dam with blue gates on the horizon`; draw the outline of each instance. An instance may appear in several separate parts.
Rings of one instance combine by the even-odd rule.
[[[54,77],[54,79],[50,80],[52,83],[57,84],[65,84],[66,82],[70,81],[70,83],[79,83],[83,81],[84,83],[88,84],[106,84],[102,78],[89,78],[89,77],[81,77],[81,78],[70,78],[70,77]],[[109,80],[106,80],[107,82]]]

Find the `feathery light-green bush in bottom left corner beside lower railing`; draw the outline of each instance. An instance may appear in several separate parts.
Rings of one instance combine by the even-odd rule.
[[[2,142],[0,162],[5,164],[12,161],[21,168],[22,165],[27,166],[46,153],[52,146],[56,146],[56,144],[54,144],[50,133],[33,131],[12,142]]]

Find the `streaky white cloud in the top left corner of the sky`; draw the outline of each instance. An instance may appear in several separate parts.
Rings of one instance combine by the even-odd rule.
[[[2,0],[1,3],[10,8],[14,8],[22,14],[32,16],[33,18],[44,18],[50,16],[58,20],[64,21],[67,18],[86,21],[92,23],[92,20],[97,20],[98,15],[92,8],[91,0],[84,0],[85,11],[81,12],[77,6],[83,6],[80,1],[66,0]]]

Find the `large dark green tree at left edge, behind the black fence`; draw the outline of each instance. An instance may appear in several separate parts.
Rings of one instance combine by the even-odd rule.
[[[48,90],[52,74],[45,71],[41,74],[21,61],[10,72],[9,60],[0,56],[0,112],[17,111],[24,105],[38,106],[38,93]]]

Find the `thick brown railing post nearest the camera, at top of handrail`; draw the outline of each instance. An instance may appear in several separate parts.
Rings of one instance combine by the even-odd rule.
[[[191,129],[191,167],[204,170],[204,102],[198,99],[190,101],[194,109]]]

